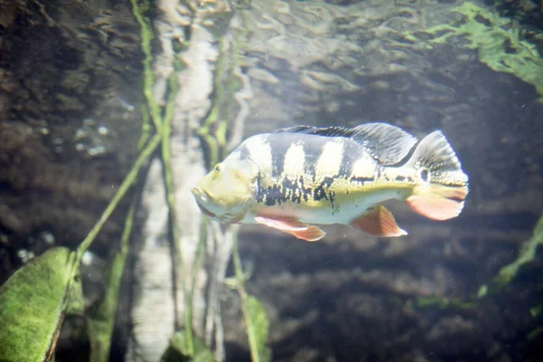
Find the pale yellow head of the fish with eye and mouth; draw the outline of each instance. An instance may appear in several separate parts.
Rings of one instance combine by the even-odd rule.
[[[191,190],[203,214],[224,224],[243,219],[254,199],[258,170],[235,152]]]

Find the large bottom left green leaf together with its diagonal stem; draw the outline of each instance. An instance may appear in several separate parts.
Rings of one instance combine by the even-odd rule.
[[[81,299],[78,293],[81,291],[79,267],[82,255],[159,144],[158,136],[148,141],[110,205],[76,251],[52,248],[15,271],[0,287],[0,325],[3,326],[0,329],[0,360],[52,360],[64,316],[71,310],[73,301]]]

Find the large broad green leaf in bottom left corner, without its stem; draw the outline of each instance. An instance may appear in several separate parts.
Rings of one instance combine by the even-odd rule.
[[[52,248],[0,287],[0,360],[52,359],[75,273],[75,253]]]

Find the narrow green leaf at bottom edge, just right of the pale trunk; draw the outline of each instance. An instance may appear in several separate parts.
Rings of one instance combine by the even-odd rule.
[[[270,321],[266,316],[266,310],[262,303],[251,295],[245,300],[247,308],[247,334],[252,349],[252,360],[257,362],[268,362],[271,360],[270,348],[268,348],[268,332]],[[256,352],[256,353],[254,353]],[[257,355],[258,358],[255,358]]]

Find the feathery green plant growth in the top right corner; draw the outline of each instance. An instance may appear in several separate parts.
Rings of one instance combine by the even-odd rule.
[[[513,74],[532,84],[543,96],[541,54],[535,44],[522,39],[519,28],[510,19],[491,14],[469,2],[453,8],[452,12],[462,14],[462,20],[456,24],[440,24],[425,29],[424,33],[433,35],[430,43],[443,44],[454,36],[463,36],[468,42],[465,46],[477,51],[481,62],[494,71]],[[405,33],[405,39],[421,42],[411,33]],[[538,101],[543,101],[543,97]]]

